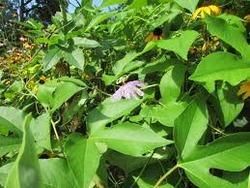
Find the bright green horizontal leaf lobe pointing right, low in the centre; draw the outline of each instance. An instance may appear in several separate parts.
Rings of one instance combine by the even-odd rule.
[[[92,138],[104,142],[111,149],[132,156],[141,156],[172,143],[148,128],[129,122],[97,131]]]

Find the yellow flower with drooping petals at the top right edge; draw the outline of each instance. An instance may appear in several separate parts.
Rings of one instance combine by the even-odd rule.
[[[205,18],[206,15],[218,16],[220,14],[221,8],[216,5],[203,6],[194,11],[192,19]]]

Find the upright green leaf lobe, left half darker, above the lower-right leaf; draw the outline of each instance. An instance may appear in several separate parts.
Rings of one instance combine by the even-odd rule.
[[[174,138],[181,158],[187,158],[196,148],[208,124],[205,104],[193,101],[175,120]]]

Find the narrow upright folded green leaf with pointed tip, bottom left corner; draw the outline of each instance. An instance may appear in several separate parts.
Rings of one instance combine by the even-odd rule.
[[[31,115],[26,116],[22,146],[8,175],[6,188],[42,187],[34,138],[29,128],[30,121]]]

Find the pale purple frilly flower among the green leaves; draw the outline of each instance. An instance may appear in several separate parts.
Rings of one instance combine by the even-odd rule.
[[[125,99],[134,99],[140,96],[143,96],[144,93],[141,88],[144,86],[144,83],[135,80],[127,82],[126,84],[122,85],[113,95],[112,99],[114,100],[121,100],[122,98]]]

